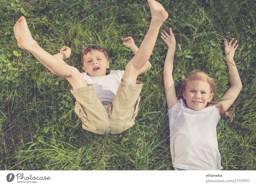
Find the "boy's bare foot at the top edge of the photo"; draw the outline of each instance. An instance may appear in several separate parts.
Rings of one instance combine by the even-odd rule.
[[[168,12],[164,10],[162,4],[155,0],[148,0],[148,4],[152,15],[152,20],[154,20],[156,23],[163,23],[168,18]]]

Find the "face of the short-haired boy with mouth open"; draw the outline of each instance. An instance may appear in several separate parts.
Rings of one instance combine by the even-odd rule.
[[[92,50],[92,52],[88,52],[83,56],[83,61],[83,69],[87,74],[98,77],[106,75],[109,61],[102,52]]]

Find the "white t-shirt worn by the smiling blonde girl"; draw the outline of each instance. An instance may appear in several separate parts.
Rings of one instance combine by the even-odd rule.
[[[167,109],[168,110],[168,109]],[[180,99],[168,110],[173,167],[185,170],[221,170],[215,105],[200,111],[189,109]]]

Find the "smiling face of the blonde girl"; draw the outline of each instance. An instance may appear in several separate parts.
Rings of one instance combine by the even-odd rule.
[[[202,80],[188,81],[182,95],[186,99],[187,107],[195,111],[205,108],[213,97],[213,93],[210,92],[210,85]]]

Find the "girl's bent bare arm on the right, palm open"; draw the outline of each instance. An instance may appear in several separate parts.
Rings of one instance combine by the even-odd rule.
[[[242,82],[240,80],[240,76],[238,74],[236,64],[234,61],[234,55],[235,51],[238,47],[237,40],[234,42],[234,38],[230,40],[228,43],[226,40],[224,40],[224,46],[225,46],[225,56],[226,56],[226,62],[228,66],[228,74],[230,79],[230,88],[226,91],[224,96],[222,97],[222,101],[220,103],[223,105],[224,111],[227,111],[228,108],[234,103],[236,100],[236,97],[239,95],[239,93],[242,90]],[[220,107],[217,107],[220,112]]]

